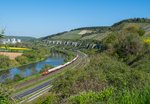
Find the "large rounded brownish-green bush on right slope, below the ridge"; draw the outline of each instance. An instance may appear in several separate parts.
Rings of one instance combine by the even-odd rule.
[[[129,26],[118,33],[112,33],[103,40],[104,49],[109,55],[127,64],[133,63],[132,61],[144,54],[146,50],[140,34],[142,30],[136,25]]]

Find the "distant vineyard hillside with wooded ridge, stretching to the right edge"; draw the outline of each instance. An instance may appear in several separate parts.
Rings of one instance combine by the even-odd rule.
[[[63,39],[69,39],[69,40],[102,40],[107,35],[112,33],[112,31],[119,31],[120,29],[126,28],[129,25],[137,25],[144,29],[145,36],[149,37],[150,34],[150,19],[146,18],[135,18],[135,19],[126,19],[123,21],[120,21],[118,23],[115,23],[112,26],[102,26],[102,27],[84,27],[84,28],[78,28],[74,29],[68,32],[62,32],[58,34],[53,34],[47,37],[44,37],[43,39],[57,39],[57,40],[63,40]]]

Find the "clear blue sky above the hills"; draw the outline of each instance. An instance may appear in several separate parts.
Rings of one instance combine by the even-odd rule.
[[[150,0],[0,0],[5,35],[43,37],[79,27],[150,18]]]

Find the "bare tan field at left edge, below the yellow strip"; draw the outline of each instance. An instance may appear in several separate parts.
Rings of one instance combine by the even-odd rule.
[[[16,53],[16,52],[0,52],[0,55],[8,56],[11,60],[14,60],[16,57],[21,56],[22,53]]]

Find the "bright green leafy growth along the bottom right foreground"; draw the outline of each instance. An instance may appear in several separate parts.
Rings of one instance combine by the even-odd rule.
[[[149,104],[150,88],[122,89],[112,87],[101,92],[82,92],[68,98],[68,104]]]

